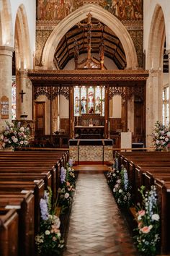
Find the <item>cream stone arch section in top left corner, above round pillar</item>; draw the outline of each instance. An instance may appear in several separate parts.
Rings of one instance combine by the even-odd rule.
[[[0,45],[13,46],[12,13],[9,0],[0,0]]]

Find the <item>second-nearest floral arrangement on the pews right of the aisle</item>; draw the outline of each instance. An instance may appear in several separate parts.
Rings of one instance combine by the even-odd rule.
[[[118,205],[128,208],[132,203],[131,186],[128,180],[128,172],[121,166],[120,178],[117,179],[113,194]]]

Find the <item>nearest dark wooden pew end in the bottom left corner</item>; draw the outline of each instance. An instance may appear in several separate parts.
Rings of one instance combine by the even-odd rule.
[[[18,214],[0,208],[0,248],[2,256],[18,256]]]

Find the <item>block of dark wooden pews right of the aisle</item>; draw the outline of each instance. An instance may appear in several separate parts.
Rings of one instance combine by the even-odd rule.
[[[152,184],[156,185],[161,209],[161,252],[166,253],[170,251],[167,241],[167,234],[170,229],[168,219],[170,214],[170,164],[169,154],[162,156],[160,157],[157,153],[156,155],[147,155],[147,157],[146,154],[135,154],[135,156],[130,155],[128,158],[124,155],[121,161],[128,168],[131,182],[135,187],[137,201],[139,199],[137,191],[141,185],[145,185],[146,189],[150,189]]]

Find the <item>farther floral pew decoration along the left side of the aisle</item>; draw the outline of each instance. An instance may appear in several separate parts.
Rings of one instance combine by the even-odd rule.
[[[71,208],[75,187],[76,178],[72,161],[69,160],[66,163],[66,168],[61,167],[61,184],[58,189],[58,207],[61,207],[61,214],[66,213]]]

